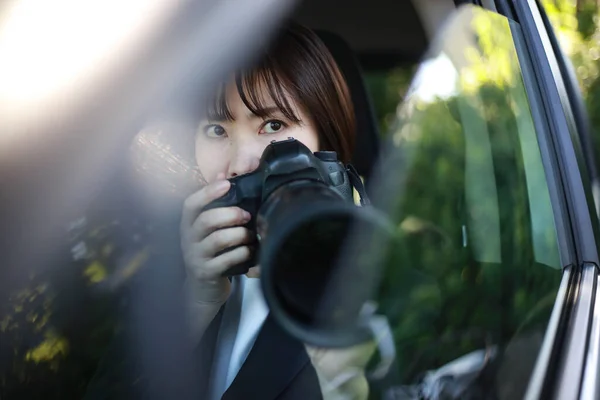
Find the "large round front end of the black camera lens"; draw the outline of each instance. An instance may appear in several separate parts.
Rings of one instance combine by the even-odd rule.
[[[263,294],[274,319],[317,346],[368,338],[360,316],[375,276],[368,263],[344,255],[357,229],[379,229],[371,210],[324,185],[294,182],[267,199],[258,224]]]

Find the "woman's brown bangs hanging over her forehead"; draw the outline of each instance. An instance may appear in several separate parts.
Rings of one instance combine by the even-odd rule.
[[[286,96],[290,85],[282,82],[276,65],[266,62],[255,69],[235,74],[237,93],[250,112],[259,118],[273,116],[273,107],[292,122],[301,122]],[[288,90],[288,95],[292,93]],[[207,117],[214,121],[233,121],[227,104],[227,83],[222,83],[213,100],[209,102]]]

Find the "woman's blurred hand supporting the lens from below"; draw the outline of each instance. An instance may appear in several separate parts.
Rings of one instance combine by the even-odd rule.
[[[369,397],[365,367],[375,353],[375,342],[344,349],[305,347],[325,400],[366,400]]]

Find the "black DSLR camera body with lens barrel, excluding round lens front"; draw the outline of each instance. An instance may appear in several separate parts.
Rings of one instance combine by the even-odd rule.
[[[348,172],[338,161],[336,152],[312,153],[293,138],[271,142],[255,171],[229,181],[229,191],[205,209],[237,206],[248,211],[252,218],[246,228],[256,233],[259,246],[278,221],[285,223],[286,231],[289,230],[289,223],[296,219],[292,216],[300,211],[296,208],[314,209],[322,202],[353,203],[354,199]],[[226,275],[244,274],[257,261],[255,254],[253,259],[231,268]]]

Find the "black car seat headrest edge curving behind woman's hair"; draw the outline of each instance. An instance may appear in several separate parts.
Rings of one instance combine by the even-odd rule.
[[[379,155],[379,129],[360,64],[354,51],[340,36],[322,30],[317,30],[316,33],[331,52],[348,83],[357,131],[352,163],[359,174],[368,180]]]

